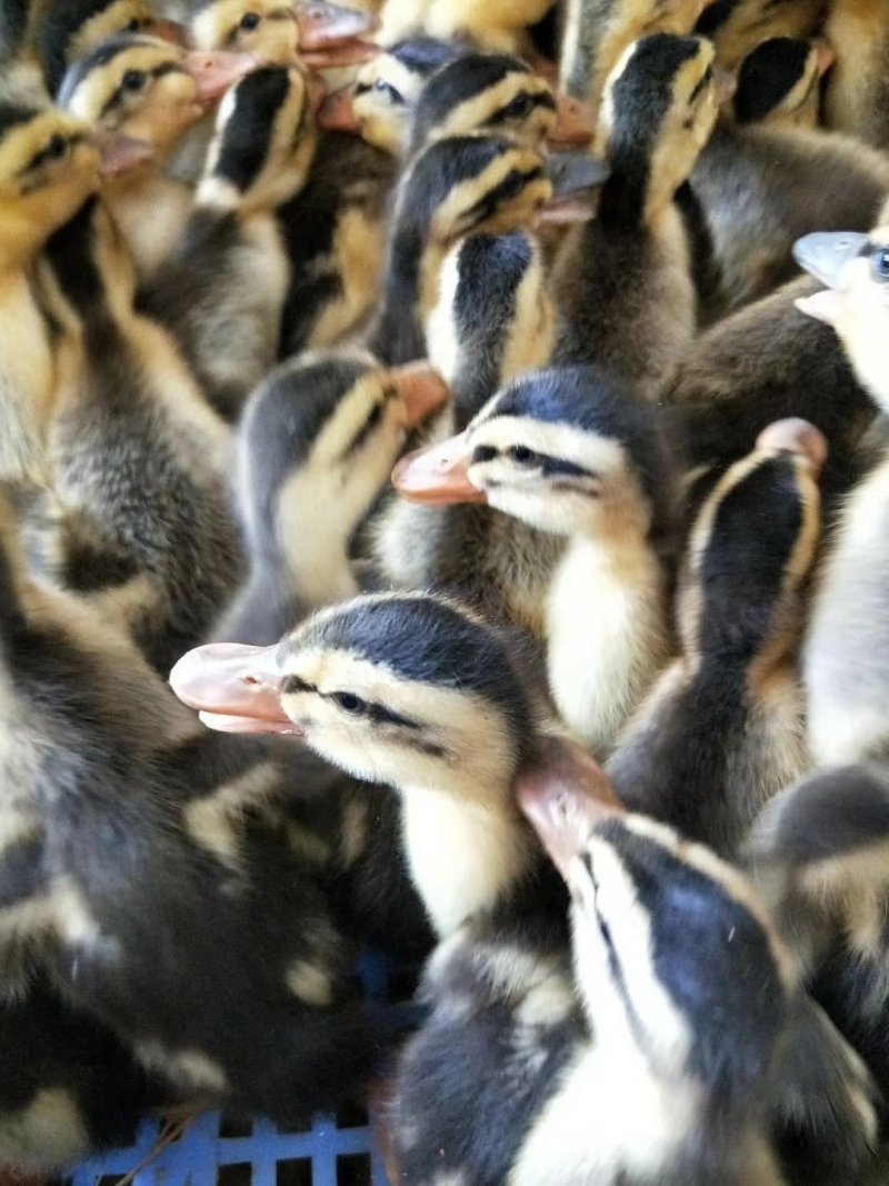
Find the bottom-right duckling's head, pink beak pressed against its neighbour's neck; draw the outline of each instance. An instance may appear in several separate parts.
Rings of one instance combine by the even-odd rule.
[[[741,874],[644,816],[520,795],[571,892],[575,976],[596,1042],[627,1038],[661,1079],[749,1108],[791,1015],[795,971]],[[754,1104],[757,1107],[757,1104]]]

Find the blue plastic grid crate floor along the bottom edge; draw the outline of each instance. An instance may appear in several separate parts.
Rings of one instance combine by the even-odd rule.
[[[281,1133],[261,1120],[250,1127],[249,1135],[222,1135],[219,1114],[207,1112],[149,1161],[160,1126],[145,1123],[132,1148],[83,1162],[68,1181],[115,1186],[126,1177],[133,1186],[386,1186],[366,1126],[340,1128],[333,1116],[316,1116],[305,1133]]]

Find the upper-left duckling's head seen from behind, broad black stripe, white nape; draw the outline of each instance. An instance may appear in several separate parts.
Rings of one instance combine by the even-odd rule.
[[[262,66],[219,104],[198,200],[242,212],[273,209],[308,177],[320,93],[296,66]]]

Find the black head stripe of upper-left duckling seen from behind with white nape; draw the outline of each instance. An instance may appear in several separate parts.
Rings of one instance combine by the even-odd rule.
[[[242,193],[250,189],[268,160],[275,120],[289,90],[286,66],[264,66],[241,79],[234,91],[234,110],[222,129],[215,177]]]

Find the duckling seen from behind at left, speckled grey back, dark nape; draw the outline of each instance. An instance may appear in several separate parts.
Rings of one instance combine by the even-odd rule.
[[[59,326],[52,484],[98,541],[51,557],[49,575],[102,605],[167,671],[239,581],[231,435],[171,337],[136,312],[132,260],[95,198],[46,243],[40,287]]]

